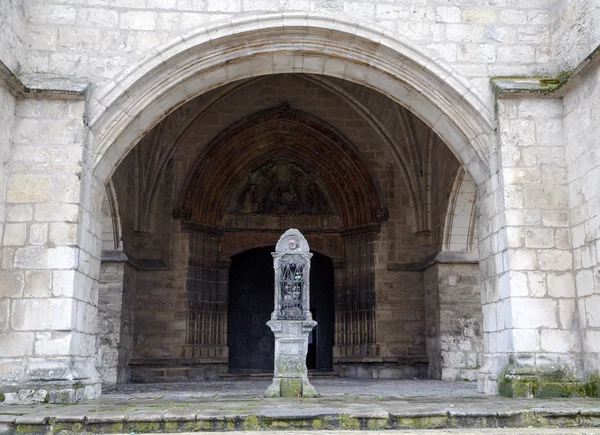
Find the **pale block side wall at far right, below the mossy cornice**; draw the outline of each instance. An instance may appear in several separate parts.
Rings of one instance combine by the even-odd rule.
[[[600,370],[600,80],[590,65],[563,98],[573,273],[586,374]],[[566,280],[566,278],[564,278]],[[573,281],[562,281],[573,289]],[[558,283],[557,283],[558,284]],[[570,310],[572,310],[570,306]]]

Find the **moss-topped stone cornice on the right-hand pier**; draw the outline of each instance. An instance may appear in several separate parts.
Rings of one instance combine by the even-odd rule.
[[[492,88],[497,98],[545,96],[562,98],[576,79],[600,65],[600,46],[572,71],[556,77],[493,77]]]

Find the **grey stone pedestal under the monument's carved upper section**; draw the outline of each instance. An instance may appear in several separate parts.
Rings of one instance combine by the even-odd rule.
[[[316,397],[308,381],[306,354],[314,320],[270,320],[275,335],[275,372],[265,397]]]

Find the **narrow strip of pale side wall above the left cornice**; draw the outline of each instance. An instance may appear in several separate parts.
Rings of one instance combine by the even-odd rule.
[[[0,4],[0,61],[15,74],[27,64],[24,49],[29,39],[27,31],[24,2],[4,0]]]

